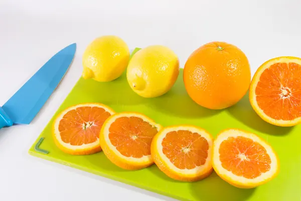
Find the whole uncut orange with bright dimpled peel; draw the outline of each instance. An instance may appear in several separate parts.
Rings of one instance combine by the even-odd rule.
[[[185,63],[183,79],[189,96],[213,110],[236,104],[251,80],[246,55],[236,46],[211,42],[196,49]]]

